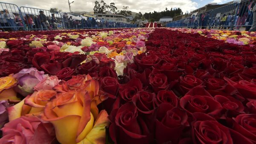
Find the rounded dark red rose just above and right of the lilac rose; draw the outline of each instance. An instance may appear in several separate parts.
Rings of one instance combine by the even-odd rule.
[[[39,70],[41,69],[41,65],[49,63],[50,58],[51,56],[48,52],[38,52],[34,55],[32,64]]]

